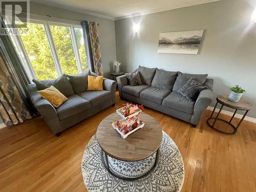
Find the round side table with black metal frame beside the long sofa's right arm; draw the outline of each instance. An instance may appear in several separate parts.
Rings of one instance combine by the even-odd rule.
[[[219,96],[217,96],[216,100],[217,100],[217,102],[216,102],[216,105],[215,105],[215,107],[214,107],[214,111],[212,111],[210,117],[207,119],[207,124],[208,124],[211,128],[213,128],[213,129],[215,129],[215,130],[217,130],[217,131],[219,131],[219,132],[221,132],[221,133],[229,134],[229,135],[236,134],[236,133],[237,133],[237,130],[238,130],[238,127],[240,126],[240,124],[241,124],[242,121],[244,120],[246,114],[247,114],[248,111],[252,108],[253,105],[252,105],[250,102],[248,102],[248,101],[246,101],[246,100],[244,100],[244,99],[240,99],[238,102],[229,101],[229,100],[228,100],[228,95],[219,95]],[[221,104],[220,111],[219,111],[219,113],[217,114],[216,117],[212,117],[212,115],[214,114],[214,112],[215,112],[215,110],[216,110],[216,106],[218,105],[218,103]],[[226,120],[224,120],[224,119],[218,118],[219,115],[220,115],[220,113],[221,113],[221,111],[222,111],[223,106],[227,106],[228,108],[232,108],[232,109],[235,110],[234,113],[233,113],[233,115],[232,115],[232,117],[231,117],[231,119],[230,119],[229,121],[226,121]],[[238,125],[237,125],[237,126],[234,126],[234,125],[231,123],[231,121],[232,121],[234,115],[236,115],[236,113],[237,113],[238,110],[245,111],[245,113],[244,113],[244,116],[242,117],[242,119],[239,121]],[[213,122],[212,124],[210,124],[209,120],[214,120],[214,122]],[[221,121],[223,121],[223,122],[225,122],[225,123],[228,123],[229,125],[232,126],[232,128],[233,128],[234,131],[233,131],[232,133],[227,133],[227,132],[223,132],[223,131],[221,131],[221,130],[216,129],[216,127],[214,127],[214,125],[215,125],[215,123],[216,123],[217,120],[221,120]]]

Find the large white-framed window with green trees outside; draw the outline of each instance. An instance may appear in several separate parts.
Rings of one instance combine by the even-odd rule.
[[[31,20],[28,32],[12,40],[29,76],[41,80],[88,69],[82,35],[80,26]]]

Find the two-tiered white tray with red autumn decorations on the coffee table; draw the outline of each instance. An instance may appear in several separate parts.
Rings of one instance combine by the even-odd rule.
[[[122,119],[112,123],[112,126],[123,139],[144,126],[138,117],[142,110],[143,105],[132,103],[125,103],[122,108],[116,110]]]

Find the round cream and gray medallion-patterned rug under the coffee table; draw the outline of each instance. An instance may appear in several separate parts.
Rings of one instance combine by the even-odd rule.
[[[110,168],[120,176],[137,177],[154,165],[156,154],[138,162],[124,162],[109,157]],[[184,180],[184,164],[174,141],[163,132],[159,160],[146,177],[126,181],[112,176],[105,169],[101,149],[94,135],[82,158],[83,182],[89,192],[96,191],[180,191]]]

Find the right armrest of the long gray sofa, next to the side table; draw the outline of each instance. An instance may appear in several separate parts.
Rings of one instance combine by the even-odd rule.
[[[204,110],[209,106],[209,104],[213,101],[212,91],[209,89],[202,90],[195,102],[194,113],[190,119],[192,124],[197,125],[201,119],[201,116]]]

